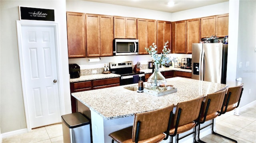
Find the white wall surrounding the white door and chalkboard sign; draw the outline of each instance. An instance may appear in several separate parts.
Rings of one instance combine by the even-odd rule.
[[[64,0],[0,0],[0,127],[1,133],[26,128],[26,118],[22,95],[20,64],[18,55],[18,39],[16,20],[19,20],[18,6],[54,9],[55,21],[58,23],[62,63],[63,91],[60,95],[65,104],[64,112],[71,113],[70,88],[68,74],[68,50],[66,33],[66,2]],[[66,100],[65,100],[66,99]]]

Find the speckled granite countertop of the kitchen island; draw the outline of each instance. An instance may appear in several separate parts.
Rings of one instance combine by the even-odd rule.
[[[97,90],[72,93],[90,110],[98,113],[104,119],[117,119],[134,116],[136,113],[156,110],[170,104],[192,100],[200,96],[214,93],[227,88],[226,84],[218,84],[189,78],[167,78],[167,84],[174,85],[178,92],[163,96],[154,96],[144,92],[138,93],[124,89],[124,87],[137,86],[129,84]],[[144,83],[146,84],[146,83]]]

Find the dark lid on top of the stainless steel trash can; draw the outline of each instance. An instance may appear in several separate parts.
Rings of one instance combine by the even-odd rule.
[[[62,121],[70,129],[90,124],[90,121],[80,112],[62,115],[61,118],[62,118]]]

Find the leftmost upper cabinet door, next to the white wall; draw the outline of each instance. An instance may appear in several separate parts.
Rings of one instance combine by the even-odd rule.
[[[68,57],[86,57],[85,14],[67,12]]]

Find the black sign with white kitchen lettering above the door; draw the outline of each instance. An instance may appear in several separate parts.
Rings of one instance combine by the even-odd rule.
[[[20,20],[54,21],[54,10],[20,6]]]

